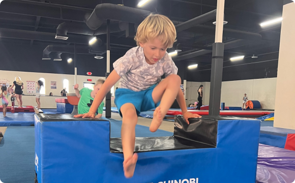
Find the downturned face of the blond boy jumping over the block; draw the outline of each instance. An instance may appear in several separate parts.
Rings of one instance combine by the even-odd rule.
[[[146,63],[150,65],[156,64],[163,58],[167,50],[167,46],[164,46],[158,38],[139,44],[143,48]]]

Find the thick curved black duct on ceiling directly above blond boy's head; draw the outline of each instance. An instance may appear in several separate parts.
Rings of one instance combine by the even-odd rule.
[[[146,10],[104,3],[97,5],[91,15],[85,14],[84,21],[90,29],[96,30],[107,19],[140,24],[150,14]]]

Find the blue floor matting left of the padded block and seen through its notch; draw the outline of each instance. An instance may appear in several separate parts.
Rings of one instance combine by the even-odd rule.
[[[31,114],[32,115],[32,114]],[[33,116],[33,115],[32,115]],[[33,117],[34,118],[34,117]],[[106,118],[103,118],[106,119]],[[112,138],[121,137],[122,121],[110,120]],[[78,129],[77,129],[78,130]],[[172,132],[136,125],[136,137],[172,136]],[[32,183],[35,177],[35,127],[8,127],[0,144],[0,180],[4,183]]]

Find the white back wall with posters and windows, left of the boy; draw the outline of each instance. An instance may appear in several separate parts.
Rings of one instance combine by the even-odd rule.
[[[26,81],[38,81],[41,77],[45,79],[45,95],[41,96],[41,107],[42,108],[56,108],[55,104],[55,98],[66,98],[66,97],[60,97],[61,96],[61,90],[64,88],[64,79],[69,80],[69,88],[67,88],[68,93],[74,93],[75,90],[72,88],[72,86],[75,84],[75,78],[74,75],[68,75],[68,74],[50,74],[50,73],[34,73],[34,72],[18,72],[18,71],[1,71],[0,70],[0,83],[10,83],[12,85],[13,81],[15,80],[15,77],[19,76],[24,83],[24,89],[23,94],[25,96],[22,96],[23,99],[23,105],[32,105],[36,106],[37,103],[35,101],[35,95],[34,96],[28,96],[26,91]],[[77,83],[79,84],[79,88],[83,88],[84,82],[96,82],[98,79],[105,79],[105,77],[96,77],[96,76],[77,76]],[[87,79],[92,79],[92,81],[87,81]],[[51,89],[50,88],[50,81],[57,81],[57,89]],[[116,85],[119,85],[119,82],[116,83]],[[115,85],[115,87],[117,87]],[[49,97],[49,93],[52,92],[53,96],[58,97]],[[30,94],[32,95],[32,94]],[[114,99],[112,97],[112,99]],[[114,102],[112,100],[112,105],[114,105]]]

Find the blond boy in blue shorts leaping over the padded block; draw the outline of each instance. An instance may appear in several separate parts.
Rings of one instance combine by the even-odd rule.
[[[134,154],[135,126],[141,111],[156,107],[151,132],[158,130],[175,98],[188,124],[188,118],[200,117],[187,111],[180,88],[181,78],[177,75],[178,68],[166,52],[167,48],[173,46],[175,38],[175,27],[166,16],[151,14],[145,18],[137,29],[137,47],[131,48],[113,64],[114,70],[102,85],[90,110],[86,114],[76,115],[94,117],[106,94],[120,79],[115,92],[115,104],[123,116],[123,168],[127,178],[133,176],[138,158]],[[165,75],[165,79],[161,81],[162,75]]]

